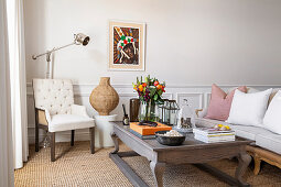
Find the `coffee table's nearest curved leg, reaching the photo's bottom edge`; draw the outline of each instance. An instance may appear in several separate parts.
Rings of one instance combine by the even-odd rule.
[[[150,168],[156,182],[156,187],[163,187],[163,174],[165,170],[165,163],[150,162]]]

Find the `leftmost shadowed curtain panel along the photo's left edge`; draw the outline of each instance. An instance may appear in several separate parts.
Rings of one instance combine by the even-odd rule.
[[[12,122],[6,0],[0,0],[0,186],[13,186]]]

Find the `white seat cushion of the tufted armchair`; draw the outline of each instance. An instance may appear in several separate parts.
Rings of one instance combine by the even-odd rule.
[[[55,114],[52,116],[48,124],[50,132],[68,131],[95,127],[94,119],[76,114]]]

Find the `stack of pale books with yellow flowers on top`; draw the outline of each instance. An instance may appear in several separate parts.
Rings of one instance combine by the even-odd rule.
[[[235,141],[235,131],[233,130],[221,131],[212,128],[196,128],[193,129],[193,133],[194,139],[205,143]]]

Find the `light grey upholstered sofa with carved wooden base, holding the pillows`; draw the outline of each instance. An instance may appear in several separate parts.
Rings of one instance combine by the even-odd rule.
[[[281,88],[280,88],[281,89]],[[275,92],[279,89],[273,89],[269,103]],[[252,89],[252,91],[255,90]],[[255,175],[258,175],[260,172],[260,162],[264,161],[271,165],[278,166],[281,168],[281,135],[274,132],[271,132],[263,128],[251,127],[251,125],[239,125],[230,124],[225,121],[209,120],[204,117],[207,113],[207,109],[196,110],[197,117],[194,119],[196,127],[212,128],[215,124],[226,124],[235,130],[236,135],[249,139],[255,141],[251,146],[247,147],[248,153],[255,160]]]

